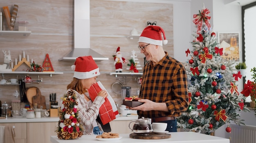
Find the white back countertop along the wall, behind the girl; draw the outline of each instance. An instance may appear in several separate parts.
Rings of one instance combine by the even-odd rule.
[[[136,120],[138,116],[122,116],[118,117],[113,121],[121,121],[121,120]],[[42,117],[42,118],[34,118],[34,119],[27,119],[26,117],[9,117],[7,119],[0,119],[0,123],[30,123],[30,122],[58,122],[59,117]]]

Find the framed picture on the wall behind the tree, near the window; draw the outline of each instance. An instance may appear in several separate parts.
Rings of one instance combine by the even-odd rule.
[[[225,61],[239,61],[239,33],[218,32],[219,48],[223,48],[222,58]]]

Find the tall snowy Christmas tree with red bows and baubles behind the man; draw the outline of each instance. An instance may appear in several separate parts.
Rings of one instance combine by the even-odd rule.
[[[245,97],[239,95],[236,81],[241,74],[235,73],[234,61],[224,61],[223,48],[219,48],[216,33],[209,23],[210,11],[203,9],[193,15],[197,31],[191,42],[193,48],[187,50],[191,56],[184,63],[188,77],[189,108],[177,118],[177,125],[184,130],[211,134],[226,124],[244,124],[238,111],[249,111],[244,105]]]

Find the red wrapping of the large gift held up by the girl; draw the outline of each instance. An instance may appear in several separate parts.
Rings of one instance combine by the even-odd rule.
[[[97,97],[99,91],[101,91],[101,87],[99,87],[98,83],[93,84],[90,89],[88,89],[90,98],[92,102]],[[105,102],[99,108],[99,116],[101,118],[102,124],[105,125],[108,122],[116,119],[116,115],[119,114],[118,111],[113,111],[112,105],[108,98],[105,98]]]

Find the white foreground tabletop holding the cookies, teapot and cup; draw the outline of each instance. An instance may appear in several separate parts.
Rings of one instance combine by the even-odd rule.
[[[104,141],[105,143],[229,143],[229,139],[215,137],[207,134],[200,134],[197,132],[169,132],[171,138],[169,139],[132,139],[130,134],[120,134],[122,137],[117,141]],[[51,136],[52,143],[99,143],[96,140],[97,135],[83,135],[79,139],[61,140],[56,136]]]

